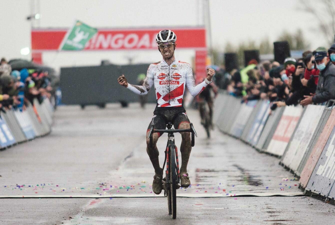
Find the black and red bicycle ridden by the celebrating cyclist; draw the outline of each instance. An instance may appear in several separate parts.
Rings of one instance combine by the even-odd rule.
[[[194,136],[198,137],[193,124],[190,123],[190,129],[172,129],[172,123],[167,123],[166,130],[156,130],[151,125],[149,130],[150,146],[152,146],[152,134],[153,133],[168,133],[167,144],[165,149],[165,159],[163,163],[163,170],[166,163],[165,177],[162,179],[164,197],[167,197],[167,207],[169,215],[172,215],[173,219],[177,217],[177,197],[176,191],[180,187],[187,188],[188,186],[179,185],[180,183],[180,172],[178,162],[178,149],[175,144],[174,133],[179,132],[191,132],[191,146],[194,146]]]

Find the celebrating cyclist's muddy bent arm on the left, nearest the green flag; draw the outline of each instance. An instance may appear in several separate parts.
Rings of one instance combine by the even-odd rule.
[[[119,82],[120,85],[128,88],[129,90],[131,90],[135,94],[146,95],[148,93],[148,91],[150,90],[152,84],[153,84],[153,78],[154,77],[153,77],[152,70],[151,70],[151,65],[150,65],[149,69],[147,71],[147,76],[144,79],[142,85],[129,84],[124,75],[122,75],[118,78],[118,82]]]

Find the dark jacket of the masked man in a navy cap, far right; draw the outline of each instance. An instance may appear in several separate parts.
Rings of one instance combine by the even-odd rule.
[[[314,103],[322,103],[330,99],[335,99],[335,65],[329,61],[320,72],[316,95],[312,100]]]

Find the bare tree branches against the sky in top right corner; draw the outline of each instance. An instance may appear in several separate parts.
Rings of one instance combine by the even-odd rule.
[[[334,0],[299,0],[300,10],[303,10],[315,17],[319,23],[319,31],[324,35],[328,44],[334,43],[335,35],[335,1]],[[313,4],[312,4],[313,2]],[[315,7],[315,3],[322,5],[323,10],[319,11]]]

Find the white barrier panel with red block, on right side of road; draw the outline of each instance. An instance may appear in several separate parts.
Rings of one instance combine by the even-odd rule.
[[[286,146],[290,141],[290,137],[292,136],[299,121],[302,111],[303,107],[301,105],[290,105],[285,107],[284,113],[280,118],[276,131],[267,148],[268,153],[277,156],[283,155]]]

